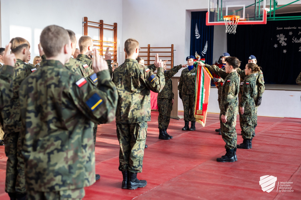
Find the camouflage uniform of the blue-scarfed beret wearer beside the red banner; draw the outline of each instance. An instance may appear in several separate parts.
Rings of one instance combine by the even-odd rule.
[[[196,68],[192,68],[190,71],[188,67],[183,69],[178,85],[179,94],[182,95],[182,102],[184,107],[184,120],[191,122],[195,122],[194,104],[196,73]]]

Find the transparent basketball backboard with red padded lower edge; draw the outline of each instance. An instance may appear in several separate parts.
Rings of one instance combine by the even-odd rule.
[[[266,24],[265,0],[208,0],[206,25],[225,25],[224,16],[239,16],[238,24]]]

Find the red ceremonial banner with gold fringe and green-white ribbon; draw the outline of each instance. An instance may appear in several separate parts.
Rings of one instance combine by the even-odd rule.
[[[208,100],[210,93],[210,80],[211,77],[205,67],[197,65],[197,77],[195,81],[195,113],[194,117],[196,122],[205,126]]]

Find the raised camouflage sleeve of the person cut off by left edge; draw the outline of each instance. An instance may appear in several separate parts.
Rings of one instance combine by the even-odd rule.
[[[13,92],[14,68],[3,65],[0,68],[0,111],[3,105],[8,104],[14,95]]]

